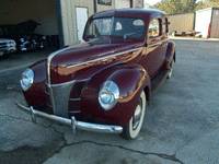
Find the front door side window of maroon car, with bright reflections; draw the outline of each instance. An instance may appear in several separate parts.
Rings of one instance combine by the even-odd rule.
[[[149,37],[155,37],[161,35],[161,20],[160,19],[153,19],[148,28],[148,36]]]

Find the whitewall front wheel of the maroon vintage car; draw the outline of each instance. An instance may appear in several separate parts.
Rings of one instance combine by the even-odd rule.
[[[123,129],[123,133],[120,134],[123,138],[131,140],[138,137],[140,129],[142,127],[145,112],[146,112],[146,94],[142,91],[140,94],[140,98],[138,101],[138,105],[136,106],[134,116],[130,118],[129,122]]]

